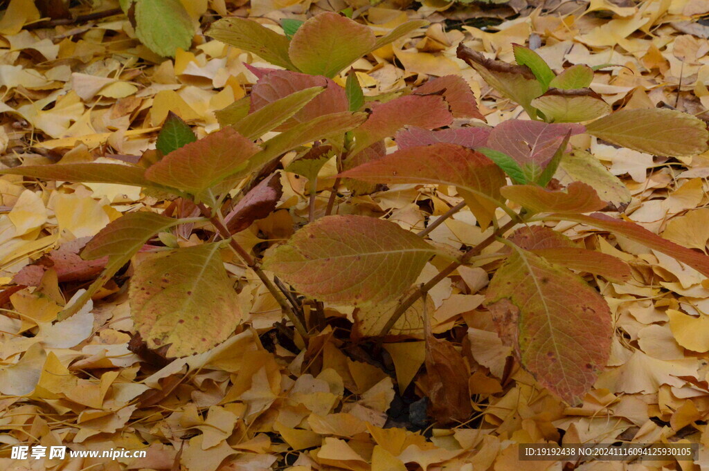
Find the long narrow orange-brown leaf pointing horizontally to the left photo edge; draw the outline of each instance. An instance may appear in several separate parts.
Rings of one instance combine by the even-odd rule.
[[[157,188],[179,193],[145,178],[145,169],[123,164],[50,164],[18,166],[0,170],[0,175],[23,175],[45,180],[77,181],[82,183],[118,183],[119,185]]]

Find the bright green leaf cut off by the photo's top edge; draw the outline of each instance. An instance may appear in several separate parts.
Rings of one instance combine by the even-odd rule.
[[[194,26],[179,0],[137,0],[135,23],[140,42],[158,55],[174,57],[192,44]]]

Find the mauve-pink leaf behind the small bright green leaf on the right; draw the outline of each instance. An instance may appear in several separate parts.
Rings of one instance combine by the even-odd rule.
[[[569,131],[571,135],[580,134],[584,126],[507,120],[493,127],[486,147],[508,154],[520,166],[534,163],[543,169]]]

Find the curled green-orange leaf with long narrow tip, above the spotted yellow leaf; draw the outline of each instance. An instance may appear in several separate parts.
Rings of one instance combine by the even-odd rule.
[[[81,256],[84,260],[101,259],[107,256],[106,267],[99,278],[96,278],[75,302],[67,305],[65,310],[60,312],[59,319],[76,314],[101,286],[105,285],[125,263],[128,263],[130,257],[138,253],[140,247],[150,237],[179,224],[178,219],[154,212],[129,212],[101,229],[86,244]]]

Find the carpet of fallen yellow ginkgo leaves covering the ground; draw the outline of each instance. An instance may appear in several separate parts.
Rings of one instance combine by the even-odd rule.
[[[191,50],[161,59],[135,40],[123,16],[23,28],[39,18],[33,2],[5,3],[9,8],[0,20],[4,166],[20,160],[134,161],[133,156],[155,147],[157,129],[171,111],[204,137],[218,128],[215,111],[250,92],[255,76],[247,64],[268,65],[202,33]],[[99,3],[99,9],[117,6]],[[200,32],[228,14],[279,30],[281,19],[302,20],[333,9],[326,1],[183,3]],[[706,0],[512,0],[491,5],[426,0],[373,6],[342,1],[336,9],[347,6],[377,35],[408,19],[431,22],[413,38],[354,63],[366,95],[459,75],[473,89],[488,123],[497,125],[516,118],[521,108],[496,96],[457,59],[457,46],[462,42],[512,62],[513,43],[544,44],[536,51],[555,72],[573,64],[619,66],[602,69],[591,84],[609,106],[676,108],[709,119],[709,27],[700,20],[709,13]],[[82,8],[75,9],[86,13]],[[363,43],[362,49],[371,46]],[[335,81],[345,85],[344,76]],[[403,149],[406,137],[397,137]],[[597,190],[612,193],[618,207],[627,205],[625,214],[649,231],[706,250],[709,155],[665,159],[596,140],[585,144],[625,184],[621,191],[599,182]],[[581,171],[572,161],[566,165],[562,171],[571,179]],[[335,173],[331,163],[325,164],[320,178]],[[284,195],[277,210],[238,234],[243,246],[289,237],[289,212],[307,216],[303,179],[283,172],[281,184]],[[326,192],[318,199],[326,201]],[[426,212],[441,215],[459,200],[452,187],[402,181],[387,191],[352,198],[340,213],[386,213],[404,229],[420,230]],[[306,348],[292,340],[288,329],[274,329],[282,321],[279,306],[236,259],[223,263],[230,280],[245,285],[231,301],[246,313],[245,324],[206,353],[166,358],[164,350],[150,350],[134,335],[126,282],[150,278],[139,263],[118,271],[94,293],[93,303],[57,322],[62,306],[106,263],[82,260],[79,249],[108,222],[136,208],[160,212],[169,202],[133,186],[0,177],[3,469],[709,470],[709,280],[652,248],[575,222],[557,225],[576,249],[596,248],[632,267],[630,276],[618,273],[613,283],[596,278],[613,317],[612,354],[583,404],[567,407],[507,360],[510,351],[493,328],[493,314],[482,306],[488,273],[496,268],[485,259],[459,268],[393,327],[393,334],[415,341],[395,338],[381,349],[367,341],[353,344],[350,334],[363,338],[379,331],[379,319],[392,305],[354,315],[328,305],[328,326]],[[198,215],[195,210],[186,204],[169,208],[181,217]],[[430,232],[432,250],[457,250],[481,241],[474,220],[467,210],[458,212]],[[195,235],[200,232],[190,237],[192,228],[163,234],[165,245],[195,246],[195,253],[208,249],[206,237]],[[491,246],[484,254],[500,249]],[[428,263],[418,282],[431,278],[436,268]],[[218,281],[229,285],[229,280]],[[455,348],[451,342],[423,341],[422,312],[428,313],[432,332]],[[467,384],[473,401],[452,397],[445,388],[452,383]],[[451,423],[430,421],[427,408],[437,416],[448,414]],[[518,460],[515,443],[560,439],[679,441],[698,443],[700,453],[693,463]],[[11,446],[62,444],[72,450],[147,450],[147,458],[9,458]]]

